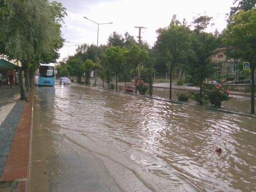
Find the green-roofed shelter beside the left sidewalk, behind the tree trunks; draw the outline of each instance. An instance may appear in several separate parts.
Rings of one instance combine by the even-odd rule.
[[[4,59],[0,59],[0,74],[2,74],[2,84],[8,84],[9,78],[8,75],[13,75],[13,84],[17,84],[19,82],[19,66],[8,62]]]

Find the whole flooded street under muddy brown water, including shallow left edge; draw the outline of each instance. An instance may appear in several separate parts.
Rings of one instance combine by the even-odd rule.
[[[76,84],[36,94],[52,192],[256,192],[256,118]]]

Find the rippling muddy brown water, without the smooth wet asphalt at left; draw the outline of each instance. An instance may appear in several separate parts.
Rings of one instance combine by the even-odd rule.
[[[56,86],[52,100],[52,131],[94,154],[120,190],[256,191],[254,118],[78,85]]]

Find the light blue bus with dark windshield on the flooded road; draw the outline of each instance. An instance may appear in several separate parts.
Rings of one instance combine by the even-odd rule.
[[[38,85],[53,86],[55,84],[54,64],[40,64],[38,74]]]

